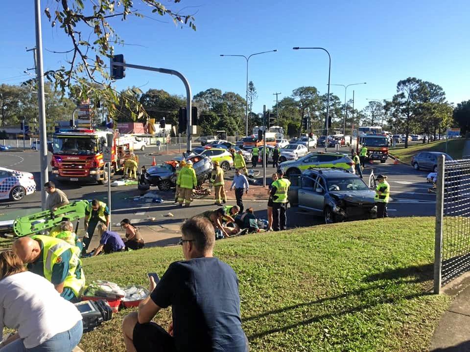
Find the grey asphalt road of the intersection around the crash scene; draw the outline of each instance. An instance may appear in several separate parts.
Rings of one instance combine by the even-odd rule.
[[[174,147],[172,149],[175,150]],[[181,150],[184,151],[184,149],[182,147]],[[345,148],[341,151],[347,152]],[[147,148],[145,152],[137,152],[140,165],[151,165],[154,158],[152,153],[154,152],[156,152],[155,148]],[[163,150],[161,153],[161,155],[155,155],[157,163],[169,160],[172,157],[172,155],[166,155]],[[39,153],[32,151],[19,153],[4,152],[0,154],[0,160],[0,164],[3,167],[32,172],[39,187]],[[262,170],[259,166],[257,169]],[[365,175],[368,176],[372,170],[375,175],[384,174],[388,176],[392,198],[388,206],[390,217],[434,215],[435,195],[427,192],[429,185],[426,183],[426,175],[428,172],[415,171],[407,165],[394,165],[391,159],[385,164],[376,163],[368,165],[365,169]],[[275,169],[269,167],[266,170],[266,175],[270,176],[274,172]],[[233,172],[226,173],[226,176],[231,178]],[[116,178],[119,177],[116,176]],[[98,198],[107,201],[107,185],[63,183],[58,185],[58,187],[66,192],[71,200]],[[165,224],[178,224],[191,216],[214,207],[213,200],[195,200],[189,209],[181,209],[170,200],[164,201],[161,204],[153,203],[151,199],[135,200],[136,197],[141,195],[136,186],[112,187],[111,195],[113,224],[119,223],[124,218],[131,219],[133,223],[140,225],[157,224],[164,226]],[[171,194],[166,194],[166,197],[171,197]],[[18,202],[0,200],[0,220],[13,219],[19,212],[34,212],[40,208],[40,201],[41,194],[39,191]],[[258,218],[266,219],[265,200],[245,201],[244,205],[245,207],[253,207]],[[173,217],[167,217],[168,213],[172,213]],[[287,214],[288,227],[308,226],[322,222],[322,219],[319,218],[306,217],[307,213],[299,208],[289,208]],[[155,220],[150,220],[149,218],[155,218]]]

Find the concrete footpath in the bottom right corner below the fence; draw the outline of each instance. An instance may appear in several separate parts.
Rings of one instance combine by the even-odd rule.
[[[462,287],[465,287],[462,290]],[[439,320],[431,339],[430,352],[470,351],[470,273],[443,287],[454,300]],[[460,291],[461,290],[461,291]]]

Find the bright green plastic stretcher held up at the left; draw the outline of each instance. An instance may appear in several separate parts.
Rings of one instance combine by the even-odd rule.
[[[61,206],[54,212],[46,210],[17,218],[13,222],[13,231],[16,236],[23,237],[57,226],[63,221],[63,218],[70,221],[84,218],[88,203],[88,200],[75,200],[70,204]]]

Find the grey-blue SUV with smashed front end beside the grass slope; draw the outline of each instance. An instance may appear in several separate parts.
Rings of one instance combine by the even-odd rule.
[[[291,206],[307,209],[324,218],[325,223],[377,216],[371,185],[345,170],[311,169],[290,179]]]

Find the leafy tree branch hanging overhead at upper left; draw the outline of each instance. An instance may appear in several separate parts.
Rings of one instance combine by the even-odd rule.
[[[155,0],[55,0],[55,3],[55,8],[47,7],[44,13],[52,27],[59,26],[64,30],[72,48],[61,52],[68,55],[68,67],[62,66],[53,75],[49,72],[46,77],[63,94],[69,89],[77,99],[100,101],[111,116],[115,116],[116,107],[123,99],[128,109],[136,109],[133,111],[136,116],[145,111],[138,102],[119,97],[111,86],[107,63],[114,55],[114,45],[124,45],[124,41],[110,21],[114,18],[125,21],[130,16],[152,19],[152,14],[157,14],[169,16],[175,25],[182,28],[196,30],[192,15],[168,9]],[[138,9],[136,3],[142,5],[143,10]]]

